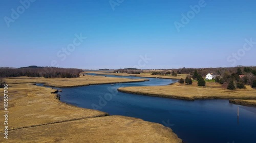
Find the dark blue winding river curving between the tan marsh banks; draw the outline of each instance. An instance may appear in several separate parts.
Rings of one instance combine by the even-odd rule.
[[[135,117],[163,124],[172,128],[184,142],[188,143],[256,142],[255,107],[231,104],[228,100],[185,101],[117,91],[120,87],[167,85],[177,82],[173,79],[147,79],[150,81],[64,88],[63,92],[59,93],[60,100],[83,108],[105,111],[110,115]]]

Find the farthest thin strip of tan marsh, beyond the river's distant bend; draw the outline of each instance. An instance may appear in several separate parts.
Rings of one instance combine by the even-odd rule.
[[[95,73],[99,75],[151,77],[151,78],[164,78],[164,79],[180,79],[180,78],[185,79],[187,76],[187,74],[178,74],[177,76],[172,76],[172,75],[151,75],[151,73],[127,74],[127,73],[105,73],[105,72],[91,72],[91,71],[86,71],[84,73]]]

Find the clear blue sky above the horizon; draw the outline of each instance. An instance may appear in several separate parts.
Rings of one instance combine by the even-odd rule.
[[[255,66],[254,0],[205,1],[179,32],[175,21],[182,24],[182,14],[199,0],[119,0],[115,7],[117,0],[111,2],[37,0],[24,8],[20,1],[0,1],[0,67]],[[71,52],[62,52],[75,34],[87,38]],[[140,58],[145,54],[151,59],[146,64]]]

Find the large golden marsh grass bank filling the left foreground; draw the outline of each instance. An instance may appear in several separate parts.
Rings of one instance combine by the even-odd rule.
[[[52,88],[33,85],[41,79],[6,80],[9,136],[8,140],[1,137],[0,142],[182,142],[171,129],[161,124],[109,116],[106,112],[62,103],[55,98],[56,94],[51,94],[55,91]],[[51,81],[53,79],[47,82]],[[58,85],[69,86],[70,82],[66,81],[61,79]],[[4,93],[4,89],[0,92]],[[0,111],[3,112],[3,98],[0,100]],[[4,121],[4,116],[0,116],[0,120]],[[0,133],[3,134],[3,130]]]

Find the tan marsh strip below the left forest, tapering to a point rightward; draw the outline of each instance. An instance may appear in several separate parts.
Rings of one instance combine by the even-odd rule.
[[[118,78],[118,77],[104,77],[104,76],[93,76],[84,75],[79,78],[44,78],[44,77],[12,77],[6,78],[7,83],[45,83],[49,87],[56,88],[71,88],[71,87],[82,87],[94,84],[113,84],[113,83],[124,83],[124,82],[141,82],[148,79],[129,79],[129,78]]]

